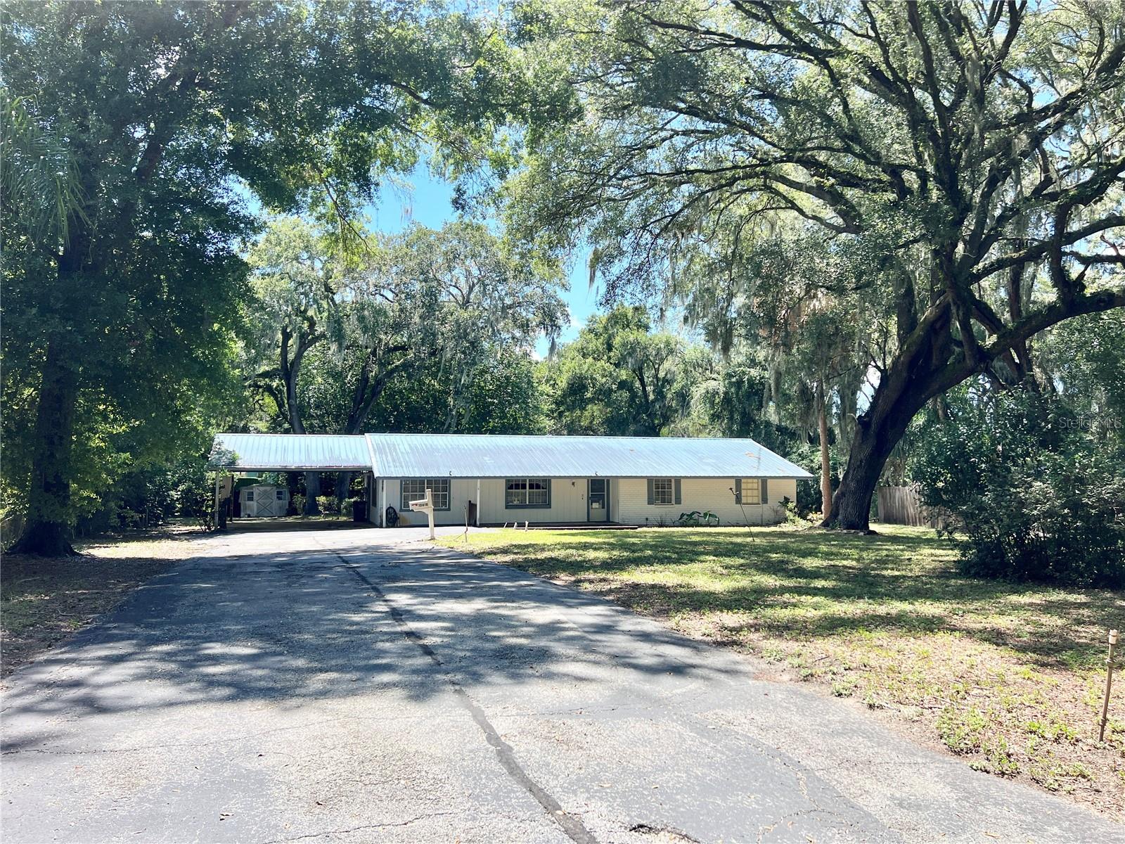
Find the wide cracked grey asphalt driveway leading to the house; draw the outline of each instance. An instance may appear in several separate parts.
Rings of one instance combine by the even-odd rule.
[[[9,679],[27,842],[1125,841],[414,531],[243,533]]]

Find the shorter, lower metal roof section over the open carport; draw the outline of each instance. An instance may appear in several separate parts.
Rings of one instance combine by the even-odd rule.
[[[370,472],[371,451],[359,434],[220,433],[212,465],[235,472]]]

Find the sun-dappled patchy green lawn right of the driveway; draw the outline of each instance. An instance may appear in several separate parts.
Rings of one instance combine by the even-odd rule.
[[[933,530],[498,530],[475,554],[604,594],[899,719],[974,767],[1125,806],[1125,675],[1095,727],[1125,593],[958,575]],[[440,540],[464,548],[460,538]]]

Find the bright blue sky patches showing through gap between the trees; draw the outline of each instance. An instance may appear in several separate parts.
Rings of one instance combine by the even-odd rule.
[[[431,176],[424,163],[414,169],[408,182],[408,187],[385,185],[379,204],[364,209],[371,228],[396,234],[411,223],[441,228],[447,221],[453,219],[451,185]],[[561,342],[574,340],[578,329],[597,312],[598,290],[590,288],[588,260],[588,251],[583,250],[567,268],[570,289],[562,298],[570,311],[570,326],[564,330]],[[536,349],[540,357],[547,354],[547,340],[541,338]]]

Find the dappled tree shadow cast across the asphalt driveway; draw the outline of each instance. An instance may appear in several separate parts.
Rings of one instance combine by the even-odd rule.
[[[12,675],[3,752],[78,742],[66,725],[80,719],[174,720],[200,706],[406,702],[451,682],[518,703],[523,683],[594,689],[606,671],[633,672],[638,688],[749,676],[703,649],[601,599],[428,546],[200,557]]]

